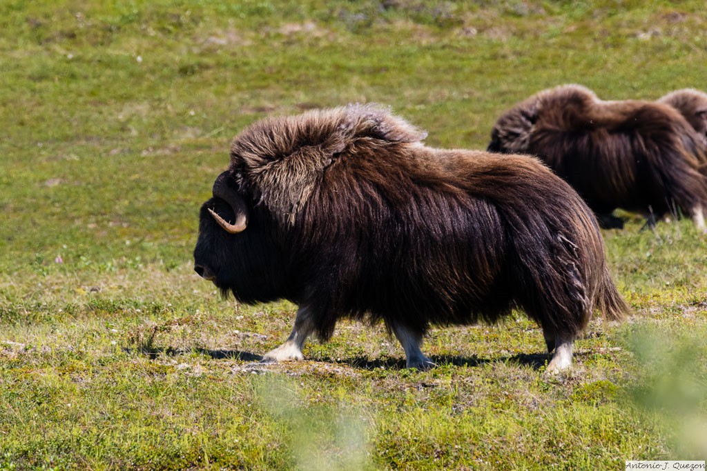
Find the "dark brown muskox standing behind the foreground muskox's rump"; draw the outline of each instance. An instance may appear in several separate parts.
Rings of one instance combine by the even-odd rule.
[[[656,102],[597,99],[580,85],[544,90],[504,113],[488,150],[539,157],[568,181],[605,227],[616,208],[693,217],[705,229],[707,179],[699,137],[679,112]]]

